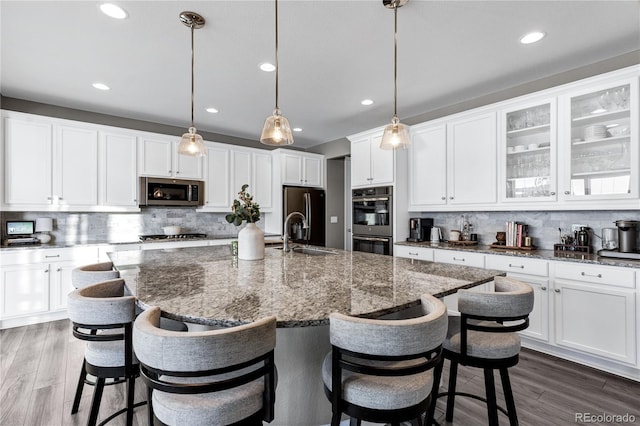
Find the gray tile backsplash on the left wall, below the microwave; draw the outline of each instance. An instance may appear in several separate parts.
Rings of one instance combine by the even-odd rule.
[[[139,213],[2,212],[6,220],[53,218],[52,242],[133,242],[141,234],[162,234],[162,227],[179,225],[184,233],[235,236],[241,227],[227,223],[226,213],[201,213],[189,208],[148,207]],[[257,223],[263,227],[264,220]],[[3,227],[4,228],[4,227]],[[4,232],[4,229],[3,229]],[[6,236],[2,235],[4,239]]]

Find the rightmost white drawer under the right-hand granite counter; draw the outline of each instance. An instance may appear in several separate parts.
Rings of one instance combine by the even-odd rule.
[[[635,270],[602,265],[585,265],[557,262],[556,278],[620,287],[635,287]]]

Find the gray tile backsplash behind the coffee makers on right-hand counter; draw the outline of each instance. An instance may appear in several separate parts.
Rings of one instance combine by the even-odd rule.
[[[473,225],[473,232],[478,234],[480,244],[493,243],[496,241],[496,232],[506,229],[506,222],[516,221],[529,225],[529,236],[533,238],[533,244],[546,250],[553,250],[553,245],[560,242],[558,228],[562,229],[563,234],[572,235],[572,224],[588,225],[592,229],[591,246],[595,250],[600,250],[602,248],[600,241],[602,228],[615,228],[614,222],[621,219],[640,221],[640,212],[636,210],[448,212],[422,213],[420,216],[433,218],[434,225],[442,228],[442,235],[446,238],[449,235],[449,230],[460,229],[463,214],[467,221]]]

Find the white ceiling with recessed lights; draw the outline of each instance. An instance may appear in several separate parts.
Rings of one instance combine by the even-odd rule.
[[[273,1],[0,2],[0,90],[12,98],[257,140],[274,107]],[[299,147],[390,121],[393,11],[381,0],[280,0],[280,108]],[[426,1],[398,11],[398,113],[416,116],[640,49],[640,2]],[[523,46],[531,30],[547,37]],[[111,87],[103,92],[91,84]],[[371,98],[369,107],[360,101]],[[213,106],[218,114],[205,112]]]

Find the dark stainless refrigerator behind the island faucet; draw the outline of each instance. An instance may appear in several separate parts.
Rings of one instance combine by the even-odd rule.
[[[289,222],[291,240],[314,246],[325,245],[325,194],[324,189],[283,187],[282,221],[292,212],[300,212],[307,218],[309,228],[303,229],[300,216],[294,216]]]

